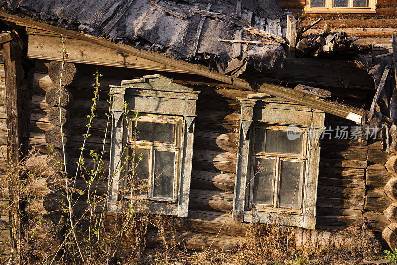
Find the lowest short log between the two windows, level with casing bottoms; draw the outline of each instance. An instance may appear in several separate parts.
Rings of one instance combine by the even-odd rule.
[[[233,208],[233,193],[190,190],[189,209],[230,212]]]

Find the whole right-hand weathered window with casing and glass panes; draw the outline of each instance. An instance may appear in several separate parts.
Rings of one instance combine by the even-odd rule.
[[[278,98],[239,100],[234,220],[314,229],[324,112]]]

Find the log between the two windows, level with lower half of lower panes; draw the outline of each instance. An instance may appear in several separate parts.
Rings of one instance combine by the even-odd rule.
[[[192,170],[190,187],[193,189],[234,191],[234,173]]]

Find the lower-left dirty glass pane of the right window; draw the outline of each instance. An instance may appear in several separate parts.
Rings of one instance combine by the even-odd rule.
[[[255,158],[254,163],[252,202],[273,205],[276,160]]]

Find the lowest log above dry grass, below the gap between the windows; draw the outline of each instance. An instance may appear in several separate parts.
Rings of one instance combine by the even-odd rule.
[[[214,234],[193,233],[193,232],[175,232],[165,231],[164,235],[157,230],[148,230],[145,236],[146,245],[149,247],[159,247],[164,244],[163,238],[168,242],[175,242],[177,245],[185,245],[189,249],[205,250],[211,247],[211,250],[221,250],[224,246],[234,246],[243,242],[242,237],[232,237]],[[173,244],[174,245],[174,244]]]

